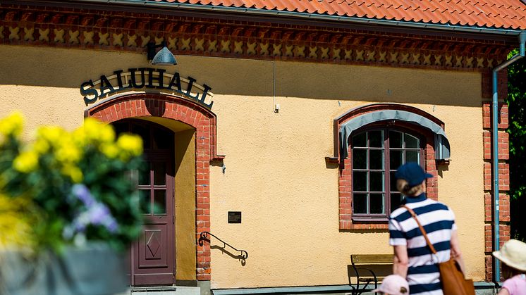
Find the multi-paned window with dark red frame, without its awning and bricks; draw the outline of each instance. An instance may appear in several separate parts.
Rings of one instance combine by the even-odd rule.
[[[400,206],[394,173],[406,162],[422,165],[424,139],[394,127],[369,127],[351,135],[353,219],[387,218]]]

